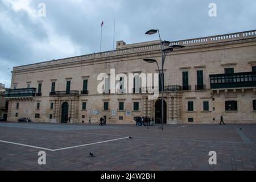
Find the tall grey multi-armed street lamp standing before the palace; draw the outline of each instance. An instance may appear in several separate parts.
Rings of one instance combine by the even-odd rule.
[[[156,34],[158,32],[159,35],[159,40],[160,40],[160,46],[161,46],[161,53],[162,53],[162,70],[159,69],[158,66],[158,71],[160,74],[160,81],[161,81],[161,92],[162,92],[162,106],[161,106],[161,110],[162,110],[162,117],[161,117],[161,122],[162,122],[162,131],[163,131],[163,123],[164,123],[164,110],[163,110],[163,96],[164,96],[164,78],[163,78],[163,69],[164,69],[164,60],[166,59],[166,55],[167,53],[170,53],[172,51],[174,51],[174,49],[179,49],[179,48],[184,48],[185,46],[180,46],[180,45],[174,45],[174,46],[170,46],[171,42],[169,41],[162,41],[161,36],[160,36],[160,32],[158,29],[151,29],[148,30],[145,34],[146,35],[152,35],[152,34]],[[164,48],[164,46],[168,46],[168,48]],[[154,59],[143,59],[144,61],[146,61],[147,63],[156,63],[158,65],[158,62]]]

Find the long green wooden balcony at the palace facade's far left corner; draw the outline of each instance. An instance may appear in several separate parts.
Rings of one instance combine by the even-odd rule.
[[[5,90],[5,97],[35,97],[35,96],[36,96],[36,88]]]

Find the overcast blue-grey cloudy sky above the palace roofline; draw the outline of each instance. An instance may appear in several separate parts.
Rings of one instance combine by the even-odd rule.
[[[46,5],[46,16],[40,3]],[[216,3],[217,16],[209,16]],[[41,14],[42,15],[42,14]],[[10,86],[11,69],[63,57],[156,40],[190,39],[256,29],[255,0],[0,0],[0,82]]]

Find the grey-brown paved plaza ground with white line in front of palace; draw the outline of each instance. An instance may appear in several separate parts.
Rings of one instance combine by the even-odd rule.
[[[0,122],[0,170],[256,169],[256,125],[159,127]],[[209,151],[217,165],[209,165]]]

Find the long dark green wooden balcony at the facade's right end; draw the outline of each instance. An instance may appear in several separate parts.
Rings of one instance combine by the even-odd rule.
[[[210,75],[210,88],[241,88],[256,86],[256,72]]]

